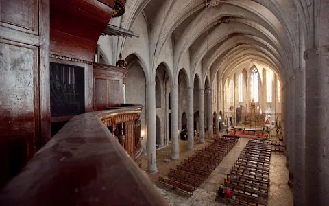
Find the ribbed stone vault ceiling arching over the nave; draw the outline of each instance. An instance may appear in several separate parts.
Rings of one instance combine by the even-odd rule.
[[[138,5],[149,25],[150,56],[156,59],[167,40],[173,40],[174,75],[178,76],[182,58],[190,56],[190,76],[202,64],[206,76],[224,79],[243,65],[257,62],[287,78],[300,64],[297,8],[294,0],[131,0]],[[301,3],[302,4],[302,3]],[[215,5],[215,6],[211,6]],[[128,11],[131,8],[127,9]],[[136,17],[130,17],[131,20]],[[246,63],[247,62],[247,63]],[[155,70],[157,65],[151,65]],[[246,66],[244,66],[246,67]],[[193,78],[191,78],[193,82]],[[192,83],[193,84],[193,83]]]

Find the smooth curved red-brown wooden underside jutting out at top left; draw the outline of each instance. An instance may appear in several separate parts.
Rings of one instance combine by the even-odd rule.
[[[114,0],[106,3],[114,5]],[[92,62],[98,38],[112,16],[106,3],[51,0],[51,54]]]

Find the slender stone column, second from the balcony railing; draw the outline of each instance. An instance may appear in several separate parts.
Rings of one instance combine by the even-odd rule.
[[[178,159],[178,85],[171,87],[170,93],[171,106],[171,159]]]

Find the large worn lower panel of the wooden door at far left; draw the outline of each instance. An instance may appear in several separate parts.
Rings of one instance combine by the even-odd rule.
[[[0,157],[8,158],[7,171],[1,171],[12,176],[34,155],[40,140],[38,47],[0,39],[0,51],[0,138],[1,147],[8,148]]]

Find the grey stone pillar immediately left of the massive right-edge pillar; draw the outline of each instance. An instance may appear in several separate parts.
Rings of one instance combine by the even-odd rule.
[[[293,172],[294,205],[305,205],[305,68],[295,76],[295,172]]]

